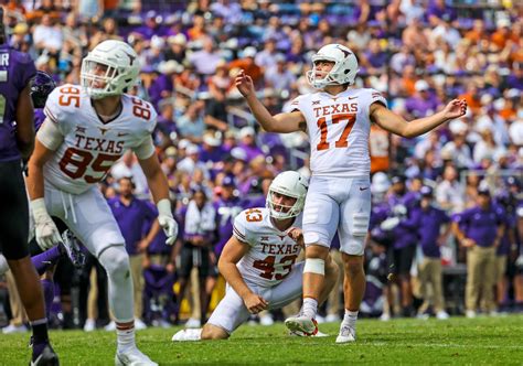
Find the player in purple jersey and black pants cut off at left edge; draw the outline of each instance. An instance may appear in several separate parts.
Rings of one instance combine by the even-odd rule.
[[[34,148],[30,80],[36,73],[31,57],[7,45],[0,9],[0,247],[17,279],[33,331],[31,365],[58,365],[47,336],[42,288],[29,258],[29,206],[21,161]]]

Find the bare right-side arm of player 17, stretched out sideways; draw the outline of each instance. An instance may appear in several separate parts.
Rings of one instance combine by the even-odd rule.
[[[405,138],[414,138],[424,134],[441,123],[463,116],[466,112],[467,101],[465,99],[453,99],[437,114],[409,122],[380,103],[372,104],[370,108],[370,116],[375,123],[392,133]]]

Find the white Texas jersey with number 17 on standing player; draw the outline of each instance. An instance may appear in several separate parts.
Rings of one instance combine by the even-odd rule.
[[[371,172],[370,106],[385,98],[375,89],[352,89],[332,96],[325,92],[305,94],[291,104],[306,118],[313,175],[367,176]]]

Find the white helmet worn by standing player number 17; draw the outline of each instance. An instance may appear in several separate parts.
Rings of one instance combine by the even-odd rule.
[[[317,69],[314,63],[317,61],[331,61],[334,63],[332,69],[321,79],[316,77]],[[354,53],[344,45],[332,43],[324,45],[312,56],[312,69],[307,72],[307,79],[317,89],[322,89],[327,85],[348,83],[353,85],[359,71]]]

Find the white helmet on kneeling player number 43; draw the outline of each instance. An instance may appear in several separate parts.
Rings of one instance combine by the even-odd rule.
[[[308,187],[309,180],[298,172],[287,171],[276,175],[273,183],[270,183],[269,192],[267,194],[267,207],[270,211],[270,216],[276,219],[286,219],[298,216],[303,211]],[[292,206],[277,204],[273,201],[273,193],[293,197],[296,198],[296,202]],[[281,211],[277,211],[276,207],[281,207]]]

